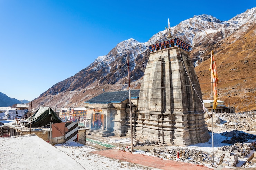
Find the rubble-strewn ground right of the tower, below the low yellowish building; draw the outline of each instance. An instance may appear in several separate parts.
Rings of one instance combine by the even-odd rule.
[[[211,113],[205,113],[208,127],[212,127]],[[243,113],[213,113],[213,127],[256,131],[256,111]]]

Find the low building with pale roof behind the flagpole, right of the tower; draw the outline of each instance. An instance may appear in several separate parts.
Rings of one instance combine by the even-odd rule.
[[[207,111],[211,111],[211,108],[212,108],[212,100],[203,100],[203,108],[204,110],[207,109]],[[226,107],[224,101],[221,101],[221,100],[217,100],[217,106],[216,106],[216,109],[213,109],[213,112],[215,113],[223,113],[223,112],[226,112],[226,113],[235,113],[235,107],[230,107],[229,104],[228,104],[228,107]]]

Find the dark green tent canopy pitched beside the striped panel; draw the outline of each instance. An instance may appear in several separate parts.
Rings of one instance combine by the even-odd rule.
[[[58,115],[50,108],[41,106],[33,115],[32,121],[31,117],[25,120],[27,122],[26,126],[30,127],[49,127],[49,124],[52,123],[61,123],[63,122]]]

